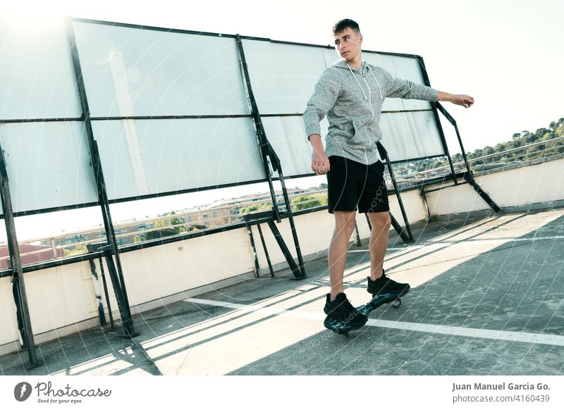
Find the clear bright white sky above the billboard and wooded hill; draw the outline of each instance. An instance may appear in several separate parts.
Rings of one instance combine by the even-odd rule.
[[[564,2],[559,0],[20,0],[2,7],[31,12],[35,18],[55,13],[310,44],[330,44],[332,25],[353,18],[360,24],[364,49],[419,54],[431,86],[474,97],[470,109],[444,104],[458,122],[467,151],[507,141],[514,132],[548,127],[564,116]],[[450,125],[443,127],[454,153],[454,134]],[[200,201],[209,199],[204,196]],[[169,198],[166,204],[175,201]],[[166,211],[159,206],[154,209]],[[127,207],[121,209],[116,207],[114,219],[128,215]],[[22,222],[18,232],[22,227],[27,236],[32,225],[37,227]]]

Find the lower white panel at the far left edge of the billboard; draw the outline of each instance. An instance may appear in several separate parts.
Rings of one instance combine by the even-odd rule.
[[[84,125],[0,124],[15,212],[97,201]]]

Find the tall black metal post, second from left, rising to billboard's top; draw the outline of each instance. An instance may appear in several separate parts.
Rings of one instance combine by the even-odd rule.
[[[66,20],[66,23],[68,30],[68,41],[70,43],[71,57],[73,60],[73,68],[78,89],[78,96],[80,98],[80,106],[82,107],[82,118],[85,123],[88,147],[90,148],[90,158],[92,160],[92,168],[94,171],[94,178],[96,180],[98,201],[100,204],[100,209],[102,211],[102,218],[104,219],[106,240],[108,241],[107,247],[104,247],[104,257],[106,258],[106,264],[109,268],[111,282],[114,287],[116,300],[118,301],[118,308],[121,314],[123,329],[125,330],[125,334],[122,336],[135,337],[137,333],[135,333],[135,329],[133,328],[133,318],[131,316],[127,290],[125,289],[123,269],[121,268],[119,250],[116,242],[116,232],[114,231],[114,224],[111,221],[111,212],[106,192],[106,183],[104,181],[104,173],[102,172],[102,161],[100,159],[97,142],[94,139],[92,123],[90,122],[90,108],[88,106],[84,78],[82,77],[82,68],[80,66],[80,57],[78,55],[78,47],[76,45],[73,20],[71,20],[71,18],[68,18]],[[115,257],[115,266],[112,254]]]

